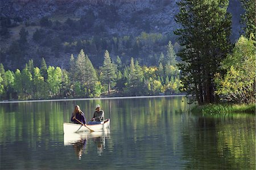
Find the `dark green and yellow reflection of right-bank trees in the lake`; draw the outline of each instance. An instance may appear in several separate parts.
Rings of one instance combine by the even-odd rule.
[[[191,119],[183,129],[183,159],[188,161],[187,168],[255,169],[255,116]]]

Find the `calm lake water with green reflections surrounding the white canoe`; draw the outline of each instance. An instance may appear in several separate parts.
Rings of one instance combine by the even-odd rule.
[[[96,104],[105,133],[63,134]],[[0,104],[0,169],[255,169],[255,115],[196,116],[185,97]],[[72,142],[73,141],[73,142]]]

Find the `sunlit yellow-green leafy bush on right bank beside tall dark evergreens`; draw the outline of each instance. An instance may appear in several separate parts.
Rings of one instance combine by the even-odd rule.
[[[233,103],[255,102],[255,41],[241,36],[230,54],[222,62],[225,75],[216,74],[217,94]]]

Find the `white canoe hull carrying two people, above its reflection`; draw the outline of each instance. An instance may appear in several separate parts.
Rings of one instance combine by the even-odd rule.
[[[102,124],[95,124],[95,125],[86,125],[89,129],[94,131],[103,131],[104,129],[108,128],[110,124],[110,118],[106,119]],[[79,131],[90,131],[85,126],[81,126],[80,124],[71,124],[65,123],[63,124],[64,133],[75,133]]]

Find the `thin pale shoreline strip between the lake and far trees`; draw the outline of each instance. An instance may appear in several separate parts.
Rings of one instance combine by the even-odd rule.
[[[44,99],[44,100],[15,100],[15,101],[0,101],[0,104],[3,104],[3,103],[48,102],[48,101],[75,101],[75,100],[139,99],[139,98],[157,98],[157,97],[173,97],[173,96],[186,96],[186,95],[123,96],[123,97],[99,97],[99,98],[76,98],[76,99]]]

